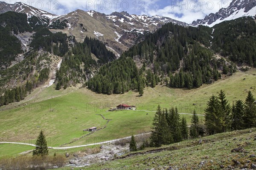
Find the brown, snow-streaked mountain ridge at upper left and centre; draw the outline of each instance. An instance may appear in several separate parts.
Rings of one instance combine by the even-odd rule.
[[[98,38],[105,42],[109,49],[115,51],[116,55],[143,40],[144,35],[154,32],[165,23],[172,22],[189,26],[184,22],[158,15],[149,17],[147,15],[130,15],[127,12],[113,12],[107,15],[79,9],[68,14],[55,15],[25,3],[0,3],[0,14],[13,11],[26,14],[28,19],[32,16],[38,17],[41,21],[38,24],[44,24],[52,32],[61,31],[68,36],[73,35],[78,41],[83,41],[86,36]],[[58,26],[61,24],[63,26]]]

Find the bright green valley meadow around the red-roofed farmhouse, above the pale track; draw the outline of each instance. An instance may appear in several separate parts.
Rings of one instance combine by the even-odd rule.
[[[253,87],[250,90],[256,96],[256,76],[252,75],[255,73],[255,69],[250,72],[238,72],[226,80],[192,90],[170,89],[166,86],[156,86],[154,89],[146,87],[142,97],[139,97],[137,92],[131,91],[122,95],[102,95],[85,88],[56,91],[55,86],[51,86],[42,89],[38,96],[28,101],[30,104],[26,105],[26,109],[16,108],[0,112],[0,138],[1,141],[18,139],[30,140],[33,143],[39,131],[43,129],[49,146],[58,146],[85,135],[87,132],[83,132],[83,129],[93,126],[103,127],[106,120],[96,114],[112,119],[107,128],[88,136],[90,138],[83,138],[70,145],[143,133],[150,130],[154,112],[105,112],[105,110],[120,103],[136,105],[137,109],[155,110],[160,104],[161,107],[167,108],[177,106],[180,112],[187,113],[191,113],[197,107],[198,113],[202,114],[210,95],[216,95],[220,89],[226,92],[230,102],[237,99],[244,100],[250,87]],[[246,79],[243,80],[244,78]],[[32,95],[35,95],[37,90]],[[193,106],[193,103],[197,105]],[[201,107],[200,104],[202,104]],[[56,110],[49,111],[49,106]],[[191,116],[184,116],[190,122]]]

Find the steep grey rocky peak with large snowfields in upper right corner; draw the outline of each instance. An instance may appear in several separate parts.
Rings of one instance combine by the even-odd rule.
[[[204,19],[192,22],[192,26],[205,25],[214,26],[226,20],[233,20],[239,17],[255,16],[256,1],[255,0],[233,0],[227,8],[221,8],[215,14],[211,13]]]

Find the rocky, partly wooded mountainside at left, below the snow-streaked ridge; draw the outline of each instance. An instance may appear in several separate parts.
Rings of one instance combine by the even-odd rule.
[[[27,19],[26,14],[17,12],[0,14],[0,105],[23,100],[33,88],[54,78],[60,57],[63,62],[56,75],[59,86],[86,81],[86,76],[116,58],[99,40],[85,38],[84,43],[78,43],[74,36],[52,33],[38,22],[37,17]],[[84,74],[77,75],[74,67]]]

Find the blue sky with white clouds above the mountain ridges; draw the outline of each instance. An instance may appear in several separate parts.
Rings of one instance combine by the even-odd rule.
[[[7,3],[23,2],[52,14],[66,14],[76,9],[111,14],[126,11],[129,14],[160,15],[186,23],[202,19],[210,13],[227,7],[231,0],[1,0]]]

